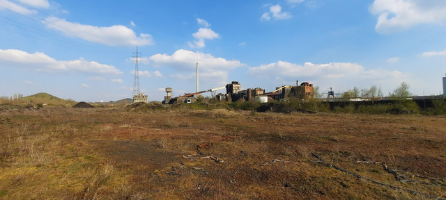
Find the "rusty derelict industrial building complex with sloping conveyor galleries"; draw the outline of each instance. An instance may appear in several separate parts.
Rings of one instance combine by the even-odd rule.
[[[219,101],[259,101],[264,103],[266,100],[263,99],[266,98],[268,101],[281,101],[290,97],[312,99],[314,95],[313,84],[308,82],[304,82],[299,85],[298,81],[296,81],[296,85],[284,85],[282,87],[277,87],[275,91],[266,93],[262,88],[248,88],[247,90],[242,90],[242,85],[238,83],[238,81],[232,81],[231,83],[226,84],[224,87],[185,94],[180,97],[171,97],[172,88],[166,88],[167,96],[164,96],[164,101],[162,103],[194,103],[197,101],[197,98],[193,97],[194,95],[199,95],[204,92],[214,92],[224,88],[226,88],[226,94],[220,93],[215,96],[215,98]]]

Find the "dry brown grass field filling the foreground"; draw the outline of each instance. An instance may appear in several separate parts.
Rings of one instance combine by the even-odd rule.
[[[3,109],[0,199],[446,198],[445,124],[422,115]]]

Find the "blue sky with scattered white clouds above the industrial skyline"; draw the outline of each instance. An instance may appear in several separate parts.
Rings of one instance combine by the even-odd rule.
[[[239,81],[442,94],[446,1],[0,0],[0,96],[161,101]],[[224,92],[224,91],[221,91]]]

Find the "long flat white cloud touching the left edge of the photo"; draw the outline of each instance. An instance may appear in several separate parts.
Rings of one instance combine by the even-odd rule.
[[[122,74],[112,65],[104,65],[95,61],[78,60],[59,61],[45,53],[28,53],[17,49],[0,49],[0,67],[20,67],[38,72],[61,73],[81,72],[88,74]]]

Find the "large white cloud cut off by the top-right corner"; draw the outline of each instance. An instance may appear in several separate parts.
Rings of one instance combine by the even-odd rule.
[[[417,24],[441,23],[446,19],[446,1],[375,0],[369,11],[378,15],[375,30],[394,33]]]

